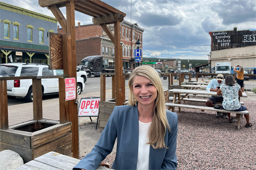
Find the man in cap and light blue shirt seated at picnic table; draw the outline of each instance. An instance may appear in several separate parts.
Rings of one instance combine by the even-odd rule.
[[[224,80],[224,76],[222,74],[218,74],[216,79],[212,79],[209,83],[209,85],[207,85],[206,87],[206,91],[207,92],[217,92],[220,88],[220,86],[222,84],[224,84],[225,80]],[[214,107],[216,105],[217,102],[223,102],[223,97],[222,96],[218,96],[218,97],[215,97],[215,96],[211,96],[210,98],[208,98],[208,100],[205,102],[205,104],[208,106],[208,107]],[[222,112],[219,112],[217,111],[217,115],[216,117],[223,117],[223,118],[228,118],[227,114],[226,113],[222,113]]]

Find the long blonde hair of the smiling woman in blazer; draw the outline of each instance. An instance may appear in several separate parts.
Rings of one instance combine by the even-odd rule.
[[[157,97],[155,99],[155,106],[153,111],[153,120],[148,133],[149,142],[147,144],[150,144],[154,149],[167,148],[164,143],[164,137],[167,131],[166,128],[169,131],[171,131],[171,129],[166,116],[164,93],[159,73],[150,66],[142,65],[135,68],[135,70],[130,74],[128,81],[129,105],[132,106],[136,105],[135,96],[132,90],[133,81],[136,76],[143,76],[148,78],[155,85],[157,90]]]

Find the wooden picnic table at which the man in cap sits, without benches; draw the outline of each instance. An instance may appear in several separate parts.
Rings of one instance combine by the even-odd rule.
[[[176,98],[178,96],[178,101],[175,101],[175,99],[173,100],[173,103],[175,104],[181,104],[181,101],[183,100],[183,98],[186,98],[189,94],[193,94],[193,95],[209,95],[209,96],[222,96],[222,94],[217,95],[217,92],[207,92],[206,90],[188,90],[188,89],[171,89],[169,90],[169,92],[173,92],[173,98]],[[181,98],[181,93],[184,93],[185,95],[182,96]],[[243,96],[239,96],[239,102],[240,102],[240,97],[242,98],[247,98],[247,94],[245,92],[243,92]],[[174,107],[172,109],[172,111],[174,112]],[[181,112],[181,108],[179,107],[179,112]]]

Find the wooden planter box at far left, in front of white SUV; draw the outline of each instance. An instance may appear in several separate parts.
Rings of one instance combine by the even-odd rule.
[[[71,124],[41,119],[9,126],[7,130],[0,130],[0,151],[13,150],[20,154],[24,163],[49,151],[71,155]]]

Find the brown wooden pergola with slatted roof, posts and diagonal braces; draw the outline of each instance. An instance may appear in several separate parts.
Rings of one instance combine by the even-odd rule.
[[[115,45],[115,102],[116,105],[123,105],[122,86],[122,51],[120,46],[120,22],[126,16],[125,13],[109,6],[101,0],[39,0],[41,7],[47,7],[54,14],[57,21],[66,34],[62,35],[63,40],[63,72],[69,78],[76,77],[76,47],[75,47],[75,16],[74,11],[78,11],[93,17],[93,23],[100,25],[107,33],[108,37]],[[61,13],[60,7],[66,7],[67,19]],[[107,24],[114,24],[113,34]],[[60,79],[60,123],[72,122],[73,157],[79,158],[78,140],[78,115],[75,100],[65,101],[65,79]],[[113,89],[114,90],[114,89]]]

